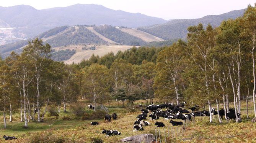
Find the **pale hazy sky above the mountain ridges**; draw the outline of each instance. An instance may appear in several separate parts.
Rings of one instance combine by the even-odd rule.
[[[194,19],[241,10],[256,0],[1,0],[0,6],[30,5],[37,10],[80,4],[98,4],[113,10],[169,19]]]

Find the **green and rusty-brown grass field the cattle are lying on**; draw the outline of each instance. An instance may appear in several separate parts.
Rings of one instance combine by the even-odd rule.
[[[244,105],[244,103],[243,103]],[[232,104],[230,104],[232,107]],[[144,127],[143,131],[133,132],[133,123],[136,120],[136,116],[140,114],[140,111],[130,112],[129,109],[123,109],[117,113],[117,120],[112,120],[111,122],[98,121],[99,125],[91,126],[91,121],[82,121],[81,119],[75,119],[72,111],[68,113],[60,113],[59,118],[46,117],[44,122],[29,122],[28,128],[24,129],[24,122],[20,122],[19,116],[15,114],[14,118],[16,121],[7,122],[7,129],[3,129],[3,122],[0,123],[0,135],[10,135],[18,137],[18,140],[13,140],[10,142],[14,143],[51,143],[51,142],[65,142],[65,143],[84,143],[92,142],[91,140],[103,140],[106,143],[116,143],[121,138],[129,137],[132,135],[139,135],[142,133],[155,133],[155,121],[149,120],[147,118],[145,121],[151,123],[151,126]],[[92,111],[87,111],[92,112]],[[243,108],[241,113],[243,114]],[[109,113],[112,114],[112,113]],[[63,116],[69,116],[72,118],[70,121],[64,121]],[[170,120],[163,120],[162,117],[158,119],[158,122],[163,122],[165,128],[160,128],[161,142],[165,142],[164,132],[166,132],[166,143],[174,142],[193,142],[193,143],[241,143],[256,142],[256,124],[250,122],[254,114],[249,114],[250,119],[246,118],[243,114],[242,122],[236,123],[235,121],[230,121],[229,124],[220,124],[215,115],[213,123],[209,123],[209,117],[196,117],[195,124],[189,125],[186,132],[183,135],[177,137],[176,127],[172,127],[169,123]],[[2,117],[1,117],[2,120]],[[2,120],[3,121],[3,120]],[[180,120],[174,120],[180,121]],[[168,126],[169,126],[169,137],[168,137]],[[171,129],[175,129],[175,136],[172,137]],[[121,132],[120,136],[105,137],[101,134],[103,129],[107,130],[118,130]],[[158,131],[158,129],[157,129]],[[158,135],[158,132],[157,132]],[[159,135],[158,135],[159,136]],[[160,138],[157,138],[158,142]],[[3,139],[0,142],[4,142]]]

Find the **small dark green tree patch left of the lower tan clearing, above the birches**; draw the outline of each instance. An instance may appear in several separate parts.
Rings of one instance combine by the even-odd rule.
[[[57,52],[51,52],[52,56],[51,59],[54,61],[62,61],[62,60],[68,60],[70,57],[72,57],[76,51],[72,49],[65,49],[65,50],[59,50]]]

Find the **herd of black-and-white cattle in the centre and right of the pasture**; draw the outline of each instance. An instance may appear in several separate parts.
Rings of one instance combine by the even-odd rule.
[[[181,119],[184,122],[191,120],[196,117],[196,116],[210,116],[210,114],[212,114],[212,116],[214,117],[214,115],[218,114],[217,111],[215,111],[215,108],[211,108],[211,113],[209,111],[197,111],[199,110],[199,106],[195,105],[193,107],[190,107],[188,109],[191,109],[192,113],[186,109],[183,109],[184,105],[186,104],[186,102],[184,102],[183,104],[179,104],[179,105],[174,105],[173,103],[168,103],[168,104],[161,104],[161,105],[148,105],[146,109],[142,109],[142,113],[139,114],[136,117],[136,121],[134,122],[134,126],[133,126],[133,131],[139,131],[139,130],[144,130],[143,126],[150,126],[150,122],[148,121],[144,121],[145,119],[147,119],[147,117],[150,117],[150,120],[157,120],[159,119],[159,117],[163,117],[163,119],[166,120],[170,120],[170,123],[173,126],[180,126],[183,125],[182,121],[173,121],[172,119]],[[89,106],[88,106],[89,107]],[[141,108],[141,105],[135,105],[136,108]],[[162,109],[166,108],[165,111],[163,111]],[[150,114],[149,114],[150,111]],[[186,113],[186,114],[185,114]],[[149,114],[149,115],[148,115]],[[219,110],[219,114],[221,116],[221,118],[223,119],[223,116],[225,116],[224,110]],[[230,109],[227,113],[227,119],[235,119],[235,111]],[[237,114],[238,117],[241,114]],[[112,118],[115,120],[117,118],[116,113],[112,114]],[[105,115],[105,120],[110,122],[111,121],[111,116],[106,114]],[[91,125],[98,125],[98,122],[91,122]],[[157,125],[156,127],[164,127],[165,124],[163,122],[155,122],[155,125]],[[106,133],[105,136],[111,136],[111,135],[121,135],[121,132],[118,132],[117,130],[103,130],[101,133]]]

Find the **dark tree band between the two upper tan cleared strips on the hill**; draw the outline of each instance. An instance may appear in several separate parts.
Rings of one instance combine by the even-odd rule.
[[[104,37],[109,38],[117,43],[123,45],[132,45],[132,46],[140,46],[144,45],[147,42],[143,41],[141,38],[132,36],[126,32],[122,32],[121,30],[112,27],[111,25],[100,25],[93,27],[95,31],[103,35]]]

